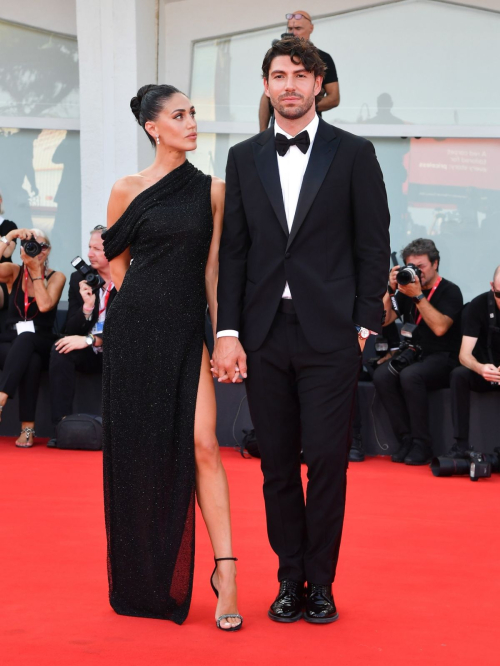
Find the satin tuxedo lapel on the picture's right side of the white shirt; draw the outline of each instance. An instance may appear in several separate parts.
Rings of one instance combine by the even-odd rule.
[[[306,215],[318,194],[319,188],[333,162],[339,143],[340,138],[336,136],[334,127],[320,119],[318,131],[316,132],[316,137],[311,149],[309,163],[304,174],[304,180],[302,181],[299,201],[297,203],[295,217],[293,218],[292,229],[288,237],[287,250],[293,243],[297,232],[302,226]]]

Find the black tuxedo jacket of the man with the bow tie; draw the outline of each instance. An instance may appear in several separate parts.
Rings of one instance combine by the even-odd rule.
[[[288,282],[309,344],[326,353],[381,330],[389,209],[373,145],[319,121],[288,231],[274,129],[233,146],[226,169],[217,330],[264,342]]]

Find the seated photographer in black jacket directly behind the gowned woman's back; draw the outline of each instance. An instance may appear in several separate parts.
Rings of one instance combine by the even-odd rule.
[[[50,355],[50,404],[54,427],[73,413],[76,371],[102,373],[103,325],[107,308],[116,295],[103,250],[101,235],[105,229],[98,225],[91,231],[90,267],[80,257],[71,262],[77,270],[70,277],[66,335],[55,343]],[[48,443],[48,446],[56,445],[55,438]]]

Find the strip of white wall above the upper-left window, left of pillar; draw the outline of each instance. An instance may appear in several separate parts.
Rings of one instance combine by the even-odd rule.
[[[76,0],[0,0],[0,19],[76,35]]]

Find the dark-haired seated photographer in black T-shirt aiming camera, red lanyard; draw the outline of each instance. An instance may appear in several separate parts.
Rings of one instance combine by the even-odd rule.
[[[385,326],[399,313],[407,342],[375,371],[373,381],[400,443],[392,461],[426,465],[432,458],[428,391],[446,388],[458,365],[463,299],[459,287],[439,275],[433,241],[412,241],[403,261],[406,266],[395,266],[389,275]]]

